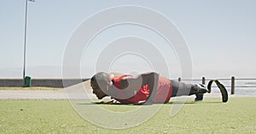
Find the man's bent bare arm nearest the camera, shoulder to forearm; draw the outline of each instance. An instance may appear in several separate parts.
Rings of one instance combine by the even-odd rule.
[[[121,89],[125,89],[124,91],[126,95],[134,96],[140,87],[148,85],[150,92],[146,101],[147,103],[154,103],[154,98],[158,87],[158,80],[159,74],[149,72],[134,77],[124,78],[120,83],[120,87]]]

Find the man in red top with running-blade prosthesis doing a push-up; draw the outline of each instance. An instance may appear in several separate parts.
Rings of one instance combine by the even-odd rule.
[[[223,95],[223,102],[227,102],[228,93],[222,84],[215,80]],[[208,89],[199,84],[185,84],[171,81],[155,72],[143,73],[137,76],[108,75],[99,72],[90,79],[90,86],[96,97],[102,99],[110,96],[111,99],[102,103],[168,103],[170,98],[195,95],[195,101],[201,101],[206,92],[211,92],[212,81]]]

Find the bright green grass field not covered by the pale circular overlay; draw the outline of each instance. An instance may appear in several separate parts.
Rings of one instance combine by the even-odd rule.
[[[0,133],[256,133],[255,104],[256,98],[230,98],[228,103],[220,98],[188,100],[178,114],[170,116],[171,102],[140,126],[114,130],[84,120],[68,101],[2,100]],[[139,107],[99,106],[113,111]]]

